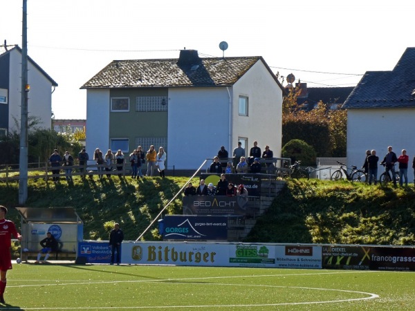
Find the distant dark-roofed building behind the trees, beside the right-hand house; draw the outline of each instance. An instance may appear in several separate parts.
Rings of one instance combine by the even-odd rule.
[[[295,87],[297,86],[298,84]],[[303,110],[311,111],[320,101],[326,104],[328,109],[340,109],[354,86],[308,88],[306,83],[300,83],[299,88],[297,104],[302,106]]]

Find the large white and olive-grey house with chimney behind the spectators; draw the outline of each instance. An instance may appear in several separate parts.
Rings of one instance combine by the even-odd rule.
[[[284,87],[262,57],[116,60],[81,88],[89,154],[154,144],[167,169],[197,169],[221,145],[232,156],[238,141],[281,154]]]

